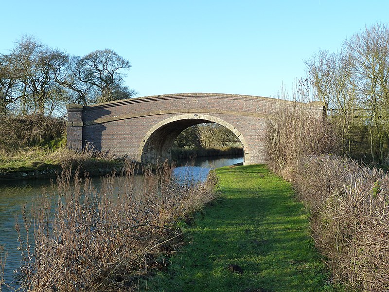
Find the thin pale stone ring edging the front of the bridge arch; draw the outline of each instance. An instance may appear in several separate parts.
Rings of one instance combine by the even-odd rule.
[[[176,121],[179,121],[179,120],[194,120],[194,119],[198,119],[198,120],[201,120],[199,121],[198,124],[202,124],[202,123],[216,123],[216,124],[219,124],[219,125],[222,125],[226,128],[228,128],[231,132],[233,132],[235,134],[235,136],[239,139],[239,141],[242,143],[242,146],[243,146],[243,151],[244,151],[244,164],[246,162],[246,158],[247,158],[247,150],[248,150],[248,144],[246,142],[246,139],[245,137],[243,137],[242,133],[237,129],[235,128],[234,126],[232,126],[231,124],[227,123],[226,121],[220,119],[220,118],[217,118],[215,116],[211,116],[211,115],[207,115],[207,114],[195,114],[195,113],[188,113],[188,114],[181,114],[181,115],[177,115],[177,116],[174,116],[174,117],[170,117],[170,118],[167,118],[163,121],[160,121],[159,123],[157,123],[156,125],[154,125],[152,128],[150,128],[147,133],[144,135],[142,141],[141,141],[141,145],[139,146],[139,150],[138,150],[138,158],[137,160],[139,162],[141,162],[141,156],[142,156],[142,153],[143,153],[143,150],[144,150],[144,146],[147,145],[147,142],[149,140],[149,138],[153,135],[153,133],[155,133],[159,128],[167,125],[167,124],[170,124],[170,123],[173,123],[173,122],[176,122]]]

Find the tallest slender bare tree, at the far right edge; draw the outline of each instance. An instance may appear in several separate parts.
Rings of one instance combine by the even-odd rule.
[[[370,134],[370,148],[375,162],[378,148],[379,162],[388,163],[385,140],[389,138],[388,96],[389,96],[389,29],[384,24],[365,27],[346,42],[354,56],[354,85],[360,104],[368,112],[367,123]]]

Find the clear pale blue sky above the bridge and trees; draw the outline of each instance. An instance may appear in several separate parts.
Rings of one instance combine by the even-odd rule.
[[[217,92],[273,96],[377,22],[388,0],[1,1],[0,53],[22,35],[71,55],[109,48],[130,60],[138,96]]]

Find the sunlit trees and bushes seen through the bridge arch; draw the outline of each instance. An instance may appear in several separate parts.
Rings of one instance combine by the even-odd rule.
[[[216,123],[195,125],[183,130],[176,138],[177,148],[225,148],[235,146],[239,139],[228,128]]]

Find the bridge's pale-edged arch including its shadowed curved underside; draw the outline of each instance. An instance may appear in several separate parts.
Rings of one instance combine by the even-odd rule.
[[[184,129],[203,123],[216,123],[228,128],[243,145],[244,164],[249,156],[249,146],[242,133],[230,123],[208,114],[188,113],[164,119],[150,128],[144,135],[138,150],[138,161],[156,163],[171,160],[171,149],[174,140]]]

